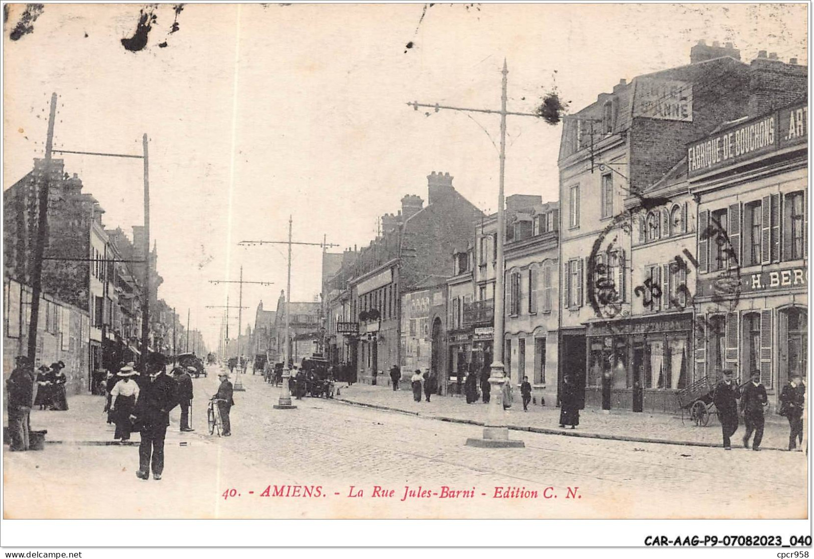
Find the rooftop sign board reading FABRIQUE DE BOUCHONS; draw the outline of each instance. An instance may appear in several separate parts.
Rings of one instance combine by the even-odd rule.
[[[690,177],[805,142],[807,107],[797,105],[746,120],[713,134],[687,149]]]

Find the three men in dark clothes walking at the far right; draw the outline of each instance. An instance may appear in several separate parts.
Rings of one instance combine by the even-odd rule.
[[[733,380],[733,371],[724,369],[723,379],[716,384],[712,394],[712,401],[718,409],[721,432],[724,439],[724,450],[732,450],[732,436],[737,431],[738,408],[743,413],[746,433],[743,435],[743,448],[749,448],[751,439],[752,450],[759,451],[763,442],[765,426],[765,408],[768,406],[766,387],[760,383],[760,371],[751,372],[749,382],[738,386]],[[800,375],[795,373],[780,394],[781,407],[778,410],[781,416],[789,420],[789,450],[797,448],[798,441],[803,443],[803,404],[805,403],[806,388]],[[738,406],[738,400],[740,405]],[[754,439],[752,438],[754,435]]]

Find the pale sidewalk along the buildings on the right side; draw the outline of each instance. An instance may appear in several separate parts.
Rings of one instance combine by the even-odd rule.
[[[335,398],[347,404],[478,426],[482,426],[486,419],[487,406],[481,401],[477,404],[466,404],[466,400],[461,397],[435,395],[429,403],[426,401],[418,403],[413,400],[413,393],[405,387],[405,383],[402,383],[402,389],[399,391],[393,391],[391,386],[354,384],[345,387],[341,383],[338,383],[338,386],[340,395]],[[506,410],[506,423],[510,430],[549,435],[698,447],[721,446],[720,423],[716,417],[710,418],[708,426],[697,427],[686,416],[682,425],[681,416],[667,413],[632,413],[627,410],[610,410],[610,413],[606,413],[596,408],[585,408],[580,410],[580,425],[571,430],[558,426],[559,408],[550,404],[545,407],[529,404],[528,412],[523,412],[522,402],[515,397],[512,407]],[[745,427],[741,424],[733,435],[733,447],[742,445],[745,433]],[[789,426],[786,418],[767,416],[761,448],[786,450],[788,444]]]

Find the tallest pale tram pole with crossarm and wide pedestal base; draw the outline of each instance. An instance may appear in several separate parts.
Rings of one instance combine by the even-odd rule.
[[[505,421],[505,411],[503,409],[503,385],[505,382],[511,382],[510,379],[505,378],[505,367],[503,365],[503,337],[504,337],[504,291],[505,291],[505,260],[503,258],[503,244],[505,242],[505,211],[504,211],[504,178],[505,178],[505,149],[506,149],[506,116],[534,116],[539,118],[538,115],[526,112],[513,112],[506,110],[506,90],[508,88],[508,80],[506,76],[509,74],[509,68],[506,65],[505,59],[503,60],[503,80],[501,84],[501,110],[495,111],[492,109],[474,109],[466,107],[448,107],[435,104],[407,103],[418,111],[418,107],[428,107],[435,109],[435,112],[440,109],[449,109],[452,111],[464,112],[484,112],[487,114],[501,116],[501,150],[500,150],[500,177],[498,181],[497,191],[497,270],[495,273],[495,314],[494,314],[494,359],[492,360],[492,374],[489,377],[489,385],[492,390],[492,400],[489,401],[488,417],[484,423],[484,437],[483,439],[470,438],[466,440],[466,444],[474,447],[484,448],[506,448],[506,447],[524,447],[525,444],[520,440],[509,439],[509,428]]]

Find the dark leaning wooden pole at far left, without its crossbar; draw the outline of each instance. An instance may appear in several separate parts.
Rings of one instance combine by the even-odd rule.
[[[39,178],[40,190],[37,203],[37,243],[34,245],[34,262],[31,271],[31,322],[28,323],[28,359],[33,366],[37,360],[37,322],[40,317],[40,297],[42,296],[42,255],[48,240],[48,194],[50,192],[50,162],[54,147],[54,120],[56,119],[56,94],[51,94],[46,136],[46,156],[42,172],[34,170],[35,180]]]

